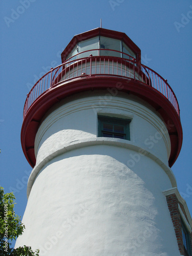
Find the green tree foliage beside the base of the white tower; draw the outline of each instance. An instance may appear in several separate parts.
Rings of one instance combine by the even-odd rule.
[[[30,246],[11,248],[11,241],[20,236],[25,228],[13,210],[14,200],[13,193],[4,194],[4,188],[0,186],[0,255],[39,256],[39,250],[34,252]]]

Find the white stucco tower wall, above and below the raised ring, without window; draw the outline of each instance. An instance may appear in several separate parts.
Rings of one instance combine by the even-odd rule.
[[[74,98],[42,122],[16,247],[48,256],[180,255],[162,193],[175,182],[165,125],[119,96]],[[131,141],[97,138],[97,112],[131,118]]]

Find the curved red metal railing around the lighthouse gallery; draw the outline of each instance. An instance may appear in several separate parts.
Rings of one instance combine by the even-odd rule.
[[[110,56],[101,55],[101,51],[104,51],[102,52],[103,54]],[[95,53],[98,56],[93,56]],[[134,79],[154,88],[172,103],[179,115],[179,105],[175,93],[167,81],[158,73],[125,53],[115,50],[94,49],[72,56],[42,76],[27,95],[24,106],[24,118],[33,102],[41,94],[59,85],[60,82],[82,76],[101,75]]]

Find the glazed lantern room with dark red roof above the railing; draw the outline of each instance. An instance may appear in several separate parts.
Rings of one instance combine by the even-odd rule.
[[[61,53],[62,62],[93,56],[113,56],[140,61],[141,51],[125,34],[103,28],[96,28],[75,35]]]

